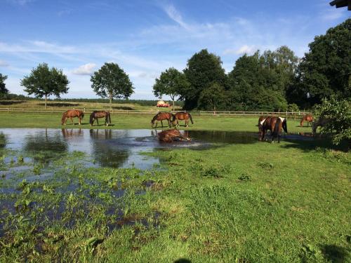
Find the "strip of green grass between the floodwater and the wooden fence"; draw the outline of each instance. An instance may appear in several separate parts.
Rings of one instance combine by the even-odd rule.
[[[74,124],[67,121],[66,126],[61,126],[62,114],[26,114],[26,113],[0,113],[0,128],[91,128],[89,124],[89,114],[82,120],[82,125],[78,125],[78,119],[74,118]],[[113,128],[113,129],[150,129],[153,114],[112,114],[112,126],[106,127],[103,124],[105,119],[100,119],[100,126],[93,128]],[[258,117],[246,116],[197,116],[193,114],[194,124],[190,124],[189,129],[194,130],[232,130],[232,131],[258,131]],[[96,122],[95,122],[96,124]],[[161,126],[161,123],[158,124]],[[167,122],[164,121],[164,126]],[[183,121],[180,122],[183,128]],[[300,127],[299,120],[288,120],[289,133],[310,133],[312,128]]]

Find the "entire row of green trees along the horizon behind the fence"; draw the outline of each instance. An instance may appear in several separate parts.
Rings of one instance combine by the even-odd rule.
[[[187,60],[187,67],[173,67],[155,79],[154,95],[168,95],[183,101],[187,110],[263,110],[310,109],[324,97],[350,98],[351,93],[351,19],[316,36],[309,51],[298,58],[288,46],[277,50],[257,50],[242,55],[232,71],[225,73],[218,55],[203,49]],[[6,94],[0,74],[0,93]],[[67,93],[69,81],[61,69],[40,64],[21,80],[25,91],[36,97]],[[91,76],[97,95],[113,99],[131,96],[133,83],[116,63],[105,63]]]

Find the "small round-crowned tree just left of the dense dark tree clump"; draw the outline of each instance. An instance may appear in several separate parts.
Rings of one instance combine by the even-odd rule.
[[[189,82],[185,77],[185,74],[178,72],[177,69],[171,67],[166,69],[165,72],[161,73],[159,79],[155,80],[154,83],[154,95],[161,98],[162,95],[169,95],[173,101],[173,110],[174,110],[174,99],[177,96],[180,96],[182,91],[189,88]]]

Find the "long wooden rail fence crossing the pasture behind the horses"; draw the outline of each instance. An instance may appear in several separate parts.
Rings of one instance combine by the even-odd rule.
[[[28,112],[28,113],[46,113],[46,114],[55,114],[55,113],[63,113],[66,112],[67,109],[30,109],[30,108],[2,108],[0,107],[0,112]],[[91,109],[81,109],[84,112],[91,112]],[[107,109],[96,109],[96,110],[107,110]],[[159,110],[129,110],[129,109],[110,109],[111,114],[157,114],[160,112]],[[179,111],[172,111],[172,113],[176,113]],[[210,111],[190,111],[190,114],[197,116],[259,116],[259,115],[277,115],[277,116],[285,116],[286,118],[300,117],[305,114],[310,114],[310,112],[210,112]]]

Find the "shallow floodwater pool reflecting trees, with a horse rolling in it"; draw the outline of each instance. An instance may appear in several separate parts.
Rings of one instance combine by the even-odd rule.
[[[98,130],[98,129],[45,129],[3,128],[0,130],[1,147],[35,154],[49,152],[60,155],[83,151],[90,156],[86,166],[114,168],[152,168],[159,159],[145,156],[142,152],[154,149],[206,149],[213,144],[249,144],[258,141],[253,132],[225,132],[216,130],[182,131],[191,142],[164,143],[157,140],[161,130]],[[282,140],[314,140],[303,135],[286,135]],[[50,154],[44,156],[50,158]],[[55,157],[53,157],[55,158]],[[6,160],[5,160],[6,161]],[[7,160],[8,161],[8,160]],[[25,159],[25,163],[28,159]]]

